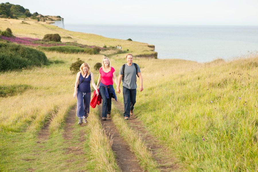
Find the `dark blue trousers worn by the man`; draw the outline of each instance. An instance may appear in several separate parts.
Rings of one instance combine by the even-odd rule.
[[[136,103],[136,89],[128,89],[123,87],[124,97],[124,117],[130,117],[130,110],[134,109]]]

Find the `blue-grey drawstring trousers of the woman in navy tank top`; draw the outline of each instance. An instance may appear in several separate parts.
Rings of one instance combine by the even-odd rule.
[[[91,93],[77,91],[77,117],[87,117],[89,115],[90,101]]]

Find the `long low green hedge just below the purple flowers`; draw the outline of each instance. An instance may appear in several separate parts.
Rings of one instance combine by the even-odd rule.
[[[80,48],[76,46],[52,46],[52,47],[42,47],[38,46],[40,50],[46,51],[56,51],[62,53],[86,53],[86,54],[98,54],[93,48]]]

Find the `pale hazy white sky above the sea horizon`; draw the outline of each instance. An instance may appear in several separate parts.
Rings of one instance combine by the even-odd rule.
[[[64,24],[258,25],[258,0],[8,0]]]

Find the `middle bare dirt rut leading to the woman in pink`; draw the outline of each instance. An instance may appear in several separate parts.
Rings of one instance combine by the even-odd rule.
[[[101,113],[102,104],[99,106],[99,108]],[[111,118],[107,118],[106,121],[101,120],[101,124],[104,127],[107,136],[110,136],[113,139],[112,150],[116,154],[116,162],[120,169],[125,172],[143,171],[140,168],[138,161],[136,160],[136,157],[129,150],[129,146],[119,136],[119,133],[117,132],[116,127],[113,124]]]

